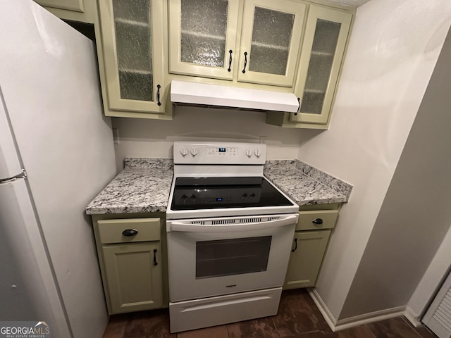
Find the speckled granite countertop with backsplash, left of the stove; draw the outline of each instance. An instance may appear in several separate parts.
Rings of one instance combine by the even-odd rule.
[[[166,211],[173,177],[169,158],[125,158],[125,168],[86,208],[88,215]]]

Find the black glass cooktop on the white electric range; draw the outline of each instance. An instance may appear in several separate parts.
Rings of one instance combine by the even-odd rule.
[[[171,210],[291,205],[264,177],[177,177]]]

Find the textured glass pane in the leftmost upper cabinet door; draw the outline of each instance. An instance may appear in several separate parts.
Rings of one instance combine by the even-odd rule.
[[[113,0],[121,99],[154,101],[151,0]]]

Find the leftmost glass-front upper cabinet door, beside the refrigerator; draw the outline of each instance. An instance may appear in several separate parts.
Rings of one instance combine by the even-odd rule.
[[[163,0],[99,1],[110,109],[163,113],[163,13]]]

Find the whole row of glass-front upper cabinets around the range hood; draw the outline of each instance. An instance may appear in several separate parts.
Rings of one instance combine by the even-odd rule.
[[[311,1],[97,0],[105,115],[171,119],[171,80],[190,77],[294,92],[299,111],[266,123],[327,129],[354,11]]]

